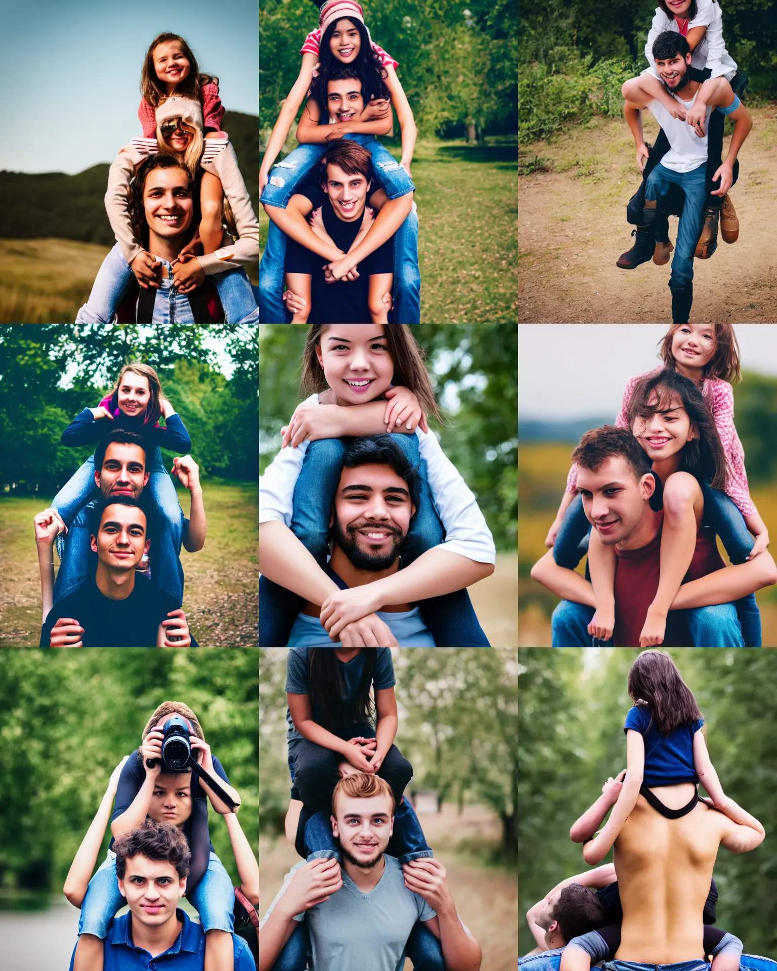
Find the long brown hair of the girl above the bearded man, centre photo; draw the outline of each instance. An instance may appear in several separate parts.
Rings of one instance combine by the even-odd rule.
[[[316,348],[321,341],[321,334],[328,323],[312,323],[308,328],[305,350],[302,353],[302,380],[299,383],[300,395],[316,394],[325,390],[326,377],[316,355]],[[387,323],[384,333],[388,343],[388,353],[394,365],[392,385],[403,385],[409,388],[419,399],[423,411],[427,416],[433,415],[438,421],[444,421],[442,412],[434,397],[434,389],[429,380],[429,373],[423,363],[424,352],[416,342],[410,326],[406,323]]]

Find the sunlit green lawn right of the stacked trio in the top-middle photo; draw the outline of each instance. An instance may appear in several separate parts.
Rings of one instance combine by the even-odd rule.
[[[399,157],[399,143],[388,148]],[[518,311],[517,149],[423,141],[411,167],[419,210],[422,323],[512,323]],[[259,214],[262,243],[267,217]]]

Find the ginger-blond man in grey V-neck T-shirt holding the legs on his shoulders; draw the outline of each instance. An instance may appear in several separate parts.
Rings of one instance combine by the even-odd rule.
[[[343,855],[298,863],[259,929],[259,969],[270,971],[297,921],[306,921],[316,967],[395,971],[416,921],[439,939],[446,971],[478,971],[481,951],[456,914],[445,867],[400,867],[385,851],[394,798],[375,775],[352,775],[332,794],[332,833]],[[404,877],[404,879],[403,879]]]

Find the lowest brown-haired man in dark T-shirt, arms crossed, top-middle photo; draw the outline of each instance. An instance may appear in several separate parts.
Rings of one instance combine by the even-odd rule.
[[[346,79],[329,86],[330,90],[332,85],[342,86],[342,97],[354,84]],[[363,106],[363,100],[361,103]],[[294,321],[386,323],[389,304],[384,297],[390,294],[393,282],[393,232],[385,233],[386,223],[379,226],[376,220],[357,242],[372,184],[369,151],[351,139],[334,139],[321,156],[318,182],[300,186],[287,209],[265,207],[288,236],[285,268],[289,288],[294,293],[310,293],[309,307],[296,312]],[[393,231],[412,205],[409,194],[384,203],[392,214]],[[307,222],[318,209],[328,241]],[[399,223],[394,224],[397,219]],[[341,260],[343,254],[347,255]]]

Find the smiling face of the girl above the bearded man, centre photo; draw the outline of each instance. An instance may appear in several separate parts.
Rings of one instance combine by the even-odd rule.
[[[316,353],[339,404],[374,401],[391,384],[394,364],[385,331],[380,323],[332,323],[321,331]]]

